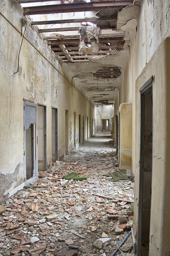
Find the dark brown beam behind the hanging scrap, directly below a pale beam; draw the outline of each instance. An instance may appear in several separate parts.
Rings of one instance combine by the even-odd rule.
[[[120,43],[124,43],[124,39],[123,37],[110,37],[110,38],[100,38],[99,42],[102,43],[110,43],[110,42],[120,42]],[[79,38],[75,38],[75,39],[60,39],[60,40],[48,40],[48,44],[49,45],[55,45],[55,44],[74,44],[74,43],[79,43],[80,39]]]

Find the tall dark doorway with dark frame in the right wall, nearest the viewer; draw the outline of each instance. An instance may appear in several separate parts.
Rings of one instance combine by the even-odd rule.
[[[149,256],[153,158],[152,78],[139,91],[141,93],[141,145],[137,255]]]

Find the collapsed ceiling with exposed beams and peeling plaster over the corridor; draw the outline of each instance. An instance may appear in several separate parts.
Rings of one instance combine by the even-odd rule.
[[[135,38],[140,7],[133,5],[133,0],[50,1],[18,0],[27,3],[22,5],[24,15],[31,15],[32,25],[38,26],[40,35],[61,59],[64,72],[86,97],[95,105],[114,104]],[[35,2],[48,4],[30,6]],[[80,55],[78,31],[87,26],[100,27],[98,54]],[[85,47],[91,46],[86,43]]]

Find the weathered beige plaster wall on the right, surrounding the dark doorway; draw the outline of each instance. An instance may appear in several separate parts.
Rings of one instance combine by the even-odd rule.
[[[124,102],[132,102],[132,171],[135,175],[134,231],[138,227],[138,190],[140,161],[140,93],[139,88],[151,76],[153,82],[153,181],[150,224],[150,256],[170,254],[169,212],[170,180],[167,166],[169,157],[170,86],[170,2],[168,0],[135,1],[141,3],[137,34],[130,49],[130,58],[124,71],[119,99],[115,108]],[[166,39],[167,38],[167,39]],[[163,42],[163,43],[162,43]],[[167,71],[168,70],[168,71]]]

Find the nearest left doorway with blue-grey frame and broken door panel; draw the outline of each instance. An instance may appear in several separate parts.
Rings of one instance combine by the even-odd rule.
[[[37,104],[23,103],[23,151],[25,184],[35,182],[37,164]]]

